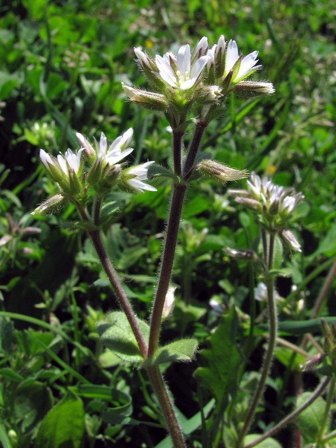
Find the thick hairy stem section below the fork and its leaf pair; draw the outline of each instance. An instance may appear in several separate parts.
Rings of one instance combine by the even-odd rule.
[[[170,437],[174,448],[186,448],[184,437],[177,421],[172,402],[169,397],[167,386],[163,380],[160,368],[157,365],[147,367],[147,372],[151,380],[154,392],[159,400]]]

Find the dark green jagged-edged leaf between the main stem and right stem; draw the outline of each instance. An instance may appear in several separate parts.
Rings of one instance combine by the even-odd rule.
[[[211,390],[218,402],[228,390],[236,387],[236,372],[241,362],[235,341],[237,326],[238,319],[234,307],[231,307],[209,337],[210,347],[200,351],[206,365],[197,368],[195,376],[203,387]]]

